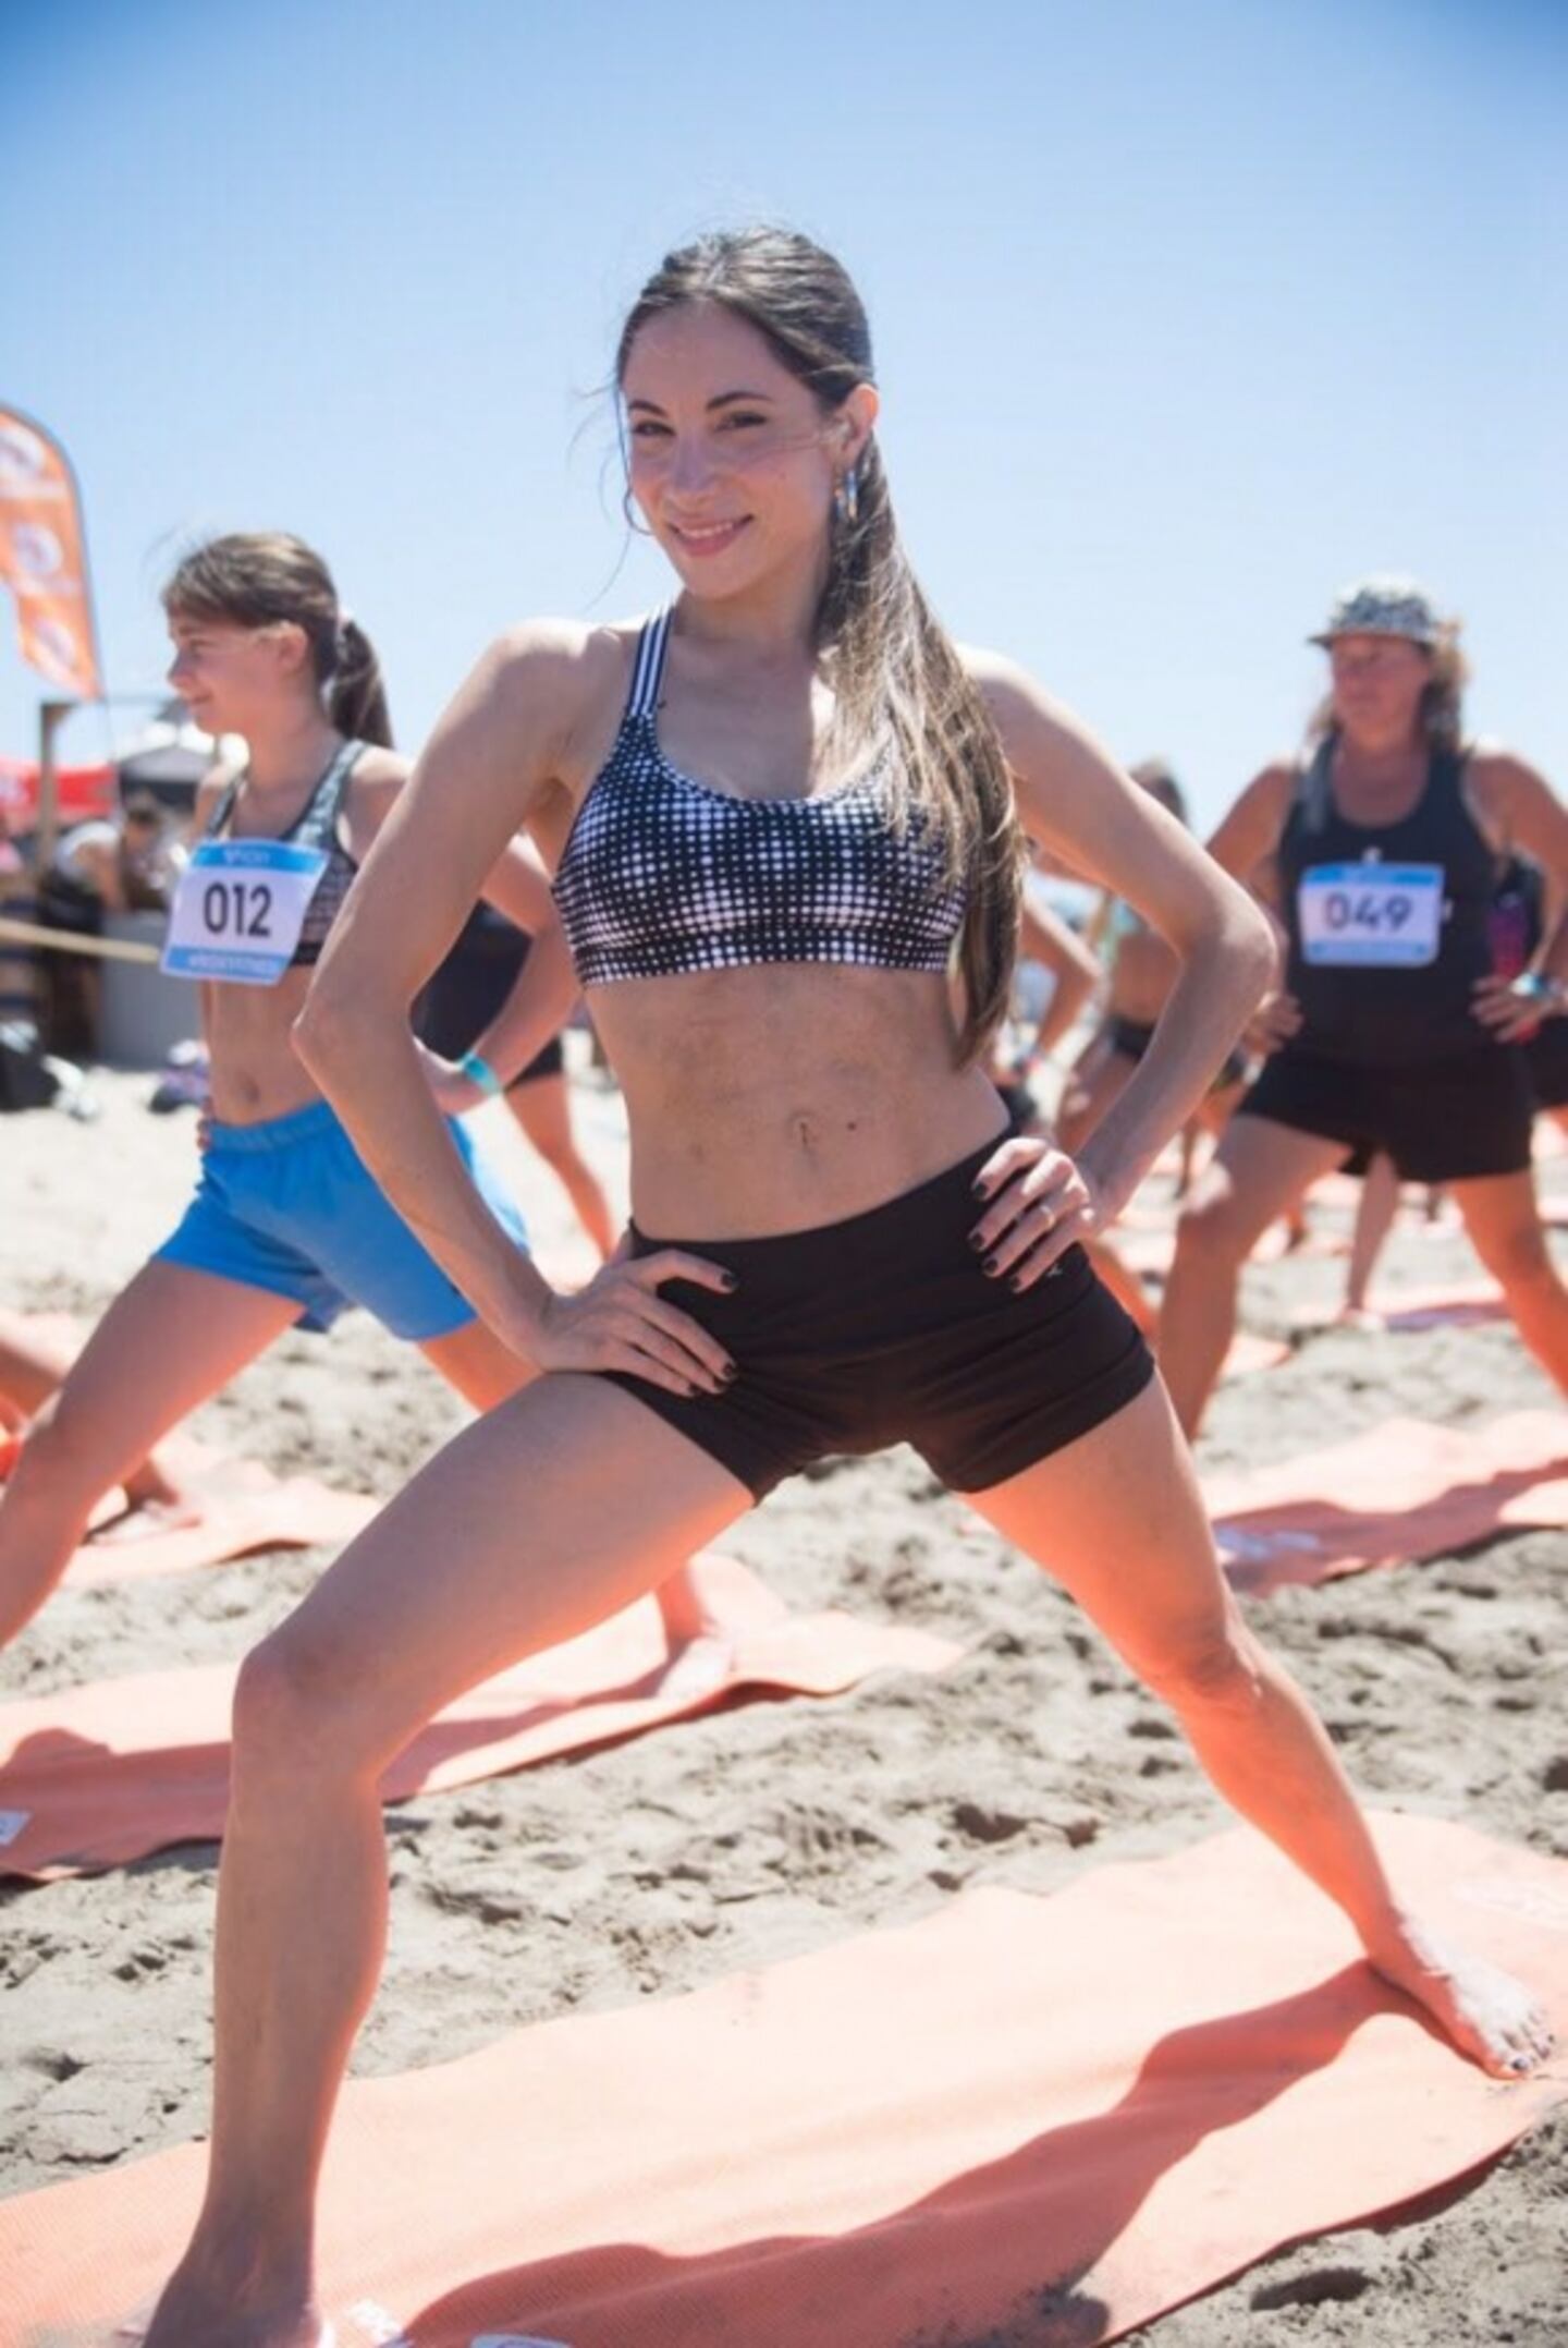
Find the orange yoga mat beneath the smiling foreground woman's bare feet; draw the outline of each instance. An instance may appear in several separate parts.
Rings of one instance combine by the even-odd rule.
[[[1568,1864],[1378,1834],[1568,2031]],[[1455,2054],[1232,1831],[352,2085],[322,2287],[340,2348],[1096,2348],[1563,2097]],[[5,2341],[96,2348],[200,2184],[181,2146],[0,2205]]]

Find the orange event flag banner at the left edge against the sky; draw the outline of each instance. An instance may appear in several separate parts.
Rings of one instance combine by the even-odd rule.
[[[0,580],[16,596],[21,657],[66,693],[99,700],[87,542],[75,474],[42,425],[0,406]]]

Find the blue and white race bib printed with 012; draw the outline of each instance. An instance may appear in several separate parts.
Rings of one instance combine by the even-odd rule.
[[[324,871],[324,848],[202,841],[174,895],[162,967],[174,979],[277,986]]]

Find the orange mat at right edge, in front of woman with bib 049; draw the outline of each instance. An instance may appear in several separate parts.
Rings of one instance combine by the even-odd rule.
[[[1329,1451],[1207,1475],[1204,1505],[1225,1573],[1253,1594],[1446,1557],[1488,1533],[1568,1524],[1568,1416],[1385,1418]]]

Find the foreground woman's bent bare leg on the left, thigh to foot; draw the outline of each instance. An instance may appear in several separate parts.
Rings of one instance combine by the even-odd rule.
[[[749,1505],[620,1388],[542,1378],[423,1468],[246,1658],[211,2167],[148,2348],[315,2348],[315,2181],[380,1970],[387,1761],[441,1705],[629,1606]]]

